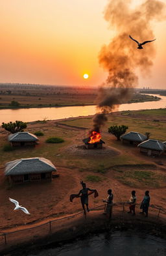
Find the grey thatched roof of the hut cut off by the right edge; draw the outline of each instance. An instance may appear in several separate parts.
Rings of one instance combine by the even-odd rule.
[[[161,141],[157,141],[156,139],[148,139],[147,141],[143,141],[137,145],[137,147],[156,151],[164,151],[166,149],[166,146]]]

